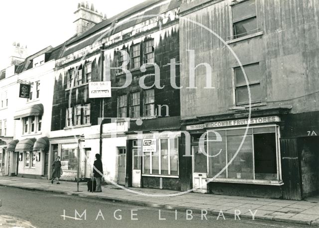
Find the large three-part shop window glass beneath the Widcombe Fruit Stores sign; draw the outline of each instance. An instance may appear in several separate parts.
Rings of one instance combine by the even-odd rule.
[[[215,177],[227,161],[228,167],[217,178],[278,180],[277,127],[252,127],[246,136],[245,130],[218,129],[207,133],[208,176]]]

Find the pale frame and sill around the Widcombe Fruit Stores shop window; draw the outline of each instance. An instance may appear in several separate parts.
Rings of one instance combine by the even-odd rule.
[[[283,184],[283,179],[282,179],[282,169],[281,169],[281,150],[280,150],[280,126],[277,124],[265,124],[265,125],[252,125],[249,126],[249,129],[253,128],[265,128],[265,127],[274,127],[275,128],[275,136],[276,136],[276,164],[277,164],[277,180],[259,180],[255,179],[255,151],[254,151],[254,134],[260,134],[260,133],[265,133],[265,132],[259,132],[259,133],[252,133],[252,159],[253,159],[253,176],[254,179],[234,179],[234,178],[228,178],[228,167],[225,170],[226,177],[225,178],[218,178],[216,177],[213,182],[229,182],[229,183],[247,183],[247,184],[263,184],[263,185],[282,185]],[[210,130],[216,130],[222,131],[222,130],[239,130],[239,129],[246,129],[246,127],[221,127],[221,128],[212,128]],[[208,129],[209,130],[209,129]],[[209,177],[209,169],[212,164],[210,164],[209,160],[209,141],[208,137],[206,137],[205,140],[205,149],[206,149],[206,158],[207,158],[207,178]],[[227,142],[226,142],[227,144]],[[227,145],[226,145],[227,148]],[[226,161],[228,162],[227,158],[227,151],[226,151]]]

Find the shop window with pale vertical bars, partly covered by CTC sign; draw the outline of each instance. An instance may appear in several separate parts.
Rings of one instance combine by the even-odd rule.
[[[159,139],[157,151],[144,152],[143,174],[178,175],[178,139]]]

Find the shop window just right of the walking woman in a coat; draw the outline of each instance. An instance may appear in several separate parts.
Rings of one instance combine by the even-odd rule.
[[[77,170],[77,144],[62,144],[61,145],[61,163],[67,164],[67,170]]]

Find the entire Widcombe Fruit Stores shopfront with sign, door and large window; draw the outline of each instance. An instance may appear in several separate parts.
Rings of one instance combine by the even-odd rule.
[[[240,186],[252,191],[263,186],[279,194],[284,184],[279,123],[279,116],[266,116],[186,126],[195,191],[239,194]]]

